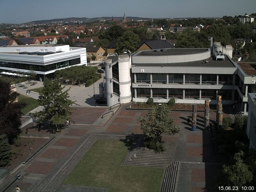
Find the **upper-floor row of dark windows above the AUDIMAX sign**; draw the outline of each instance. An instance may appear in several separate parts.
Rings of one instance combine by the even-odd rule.
[[[183,74],[169,74],[168,83],[183,83]],[[150,74],[136,74],[137,83],[150,83]],[[153,83],[167,83],[167,74],[152,74]],[[200,84],[200,74],[185,74],[186,84]],[[219,75],[218,83],[232,85],[233,75]],[[239,81],[237,82],[239,83]],[[217,84],[216,74],[202,74],[202,84]]]

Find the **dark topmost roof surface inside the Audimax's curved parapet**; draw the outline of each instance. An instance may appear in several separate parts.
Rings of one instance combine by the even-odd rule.
[[[168,48],[159,50],[147,50],[138,52],[134,56],[167,56],[167,55],[187,55],[199,54],[208,51],[207,48]]]

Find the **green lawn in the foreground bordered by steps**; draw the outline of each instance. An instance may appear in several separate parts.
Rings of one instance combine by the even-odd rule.
[[[122,166],[127,153],[124,142],[97,140],[64,184],[108,188],[109,192],[159,191],[164,168]]]

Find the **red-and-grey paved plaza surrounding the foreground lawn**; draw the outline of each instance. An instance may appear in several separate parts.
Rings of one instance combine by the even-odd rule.
[[[62,184],[64,176],[71,172],[82,156],[93,144],[91,134],[120,135],[142,134],[138,118],[146,114],[146,110],[126,110],[130,104],[123,104],[116,108],[113,116],[101,120],[101,114],[107,108],[81,108],[74,112],[71,120],[75,124],[65,127],[61,132],[51,134],[44,130],[37,130],[31,124],[29,133],[37,136],[55,136],[45,148],[36,154],[28,163],[21,166],[18,173],[22,178],[10,186],[6,192],[12,192],[16,185],[22,192],[68,191],[72,186]],[[80,111],[79,111],[80,110]],[[191,132],[186,119],[192,112],[171,112],[174,124],[180,126],[181,132],[174,136],[163,136],[163,140],[175,146],[173,159],[180,162],[179,176],[176,181],[177,191],[200,192],[204,189],[211,191],[215,177],[225,160],[214,156],[212,136],[203,131],[203,112],[198,112],[198,130]],[[211,120],[214,121],[214,111]],[[68,166],[67,166],[68,165]],[[64,175],[60,177],[58,175]],[[107,191],[99,188],[80,188],[76,191]]]

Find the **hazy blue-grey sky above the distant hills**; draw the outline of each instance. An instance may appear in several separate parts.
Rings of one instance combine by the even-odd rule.
[[[256,12],[256,0],[0,0],[0,23],[68,17],[222,17]]]

